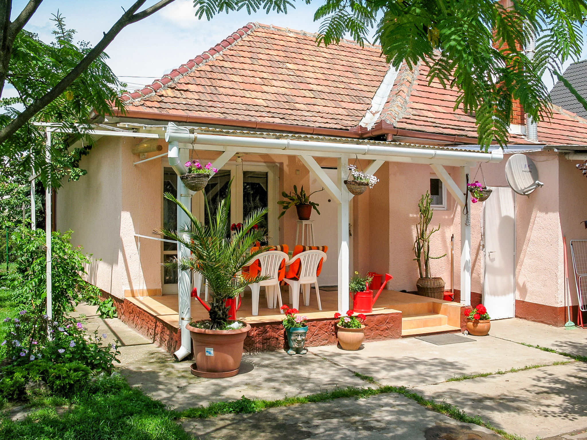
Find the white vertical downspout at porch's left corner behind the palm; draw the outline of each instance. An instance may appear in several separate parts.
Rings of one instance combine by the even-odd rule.
[[[187,129],[183,129],[183,127],[176,127],[177,130],[181,130],[182,132],[188,131]],[[189,133],[189,131],[188,131]],[[168,148],[168,161],[169,165],[173,168],[173,170],[177,174],[177,189],[179,192],[179,201],[182,202],[186,207],[191,207],[191,192],[185,187],[183,181],[181,181],[180,176],[187,174],[187,169],[183,164],[183,160],[181,158],[180,153],[180,145],[178,140],[175,140],[173,137],[173,131],[167,130],[165,134],[165,140],[169,143]],[[187,153],[187,152],[186,152]],[[187,158],[187,154],[185,154]],[[183,209],[177,207],[177,228],[180,229],[181,226],[190,224],[190,218],[185,214]],[[190,251],[185,248],[185,246],[181,245],[179,242],[177,243],[177,258],[187,258],[190,256]],[[187,270],[178,270],[177,271],[177,300],[179,306],[179,323],[180,323],[180,331],[181,331],[181,346],[179,350],[173,353],[173,357],[176,358],[177,361],[183,360],[185,357],[191,354],[191,336],[190,331],[185,328],[187,324],[191,321],[191,297],[190,297],[190,272]]]

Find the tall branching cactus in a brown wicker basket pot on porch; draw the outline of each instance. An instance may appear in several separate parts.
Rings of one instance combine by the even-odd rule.
[[[430,256],[430,237],[434,232],[440,231],[440,225],[438,225],[438,228],[430,228],[430,222],[434,213],[430,206],[431,202],[432,198],[428,191],[422,195],[418,202],[420,222],[416,225],[416,241],[414,241],[416,258],[414,260],[418,262],[420,278],[416,282],[416,287],[418,289],[418,295],[443,299],[444,280],[441,277],[433,277],[430,274],[430,260],[446,256],[446,253],[437,257]]]

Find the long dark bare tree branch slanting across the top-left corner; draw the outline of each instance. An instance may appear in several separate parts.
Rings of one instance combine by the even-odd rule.
[[[6,139],[12,136],[12,134],[16,133],[19,128],[31,120],[36,113],[44,109],[53,100],[57,99],[60,94],[65,92],[65,90],[77,79],[77,77],[82,75],[84,70],[86,70],[87,67],[89,67],[89,65],[92,64],[102,52],[104,52],[104,49],[106,49],[106,47],[120,33],[120,31],[122,31],[122,29],[131,23],[135,23],[144,18],[147,18],[150,15],[153,15],[153,13],[159,11],[161,8],[164,8],[164,6],[167,6],[174,0],[161,0],[153,6],[150,6],[150,8],[136,13],[136,11],[144,4],[145,1],[146,0],[137,0],[134,5],[127,9],[127,11],[125,11],[124,14],[120,17],[120,19],[114,23],[112,28],[110,28],[110,31],[104,33],[102,40],[100,40],[100,42],[94,46],[90,52],[87,53],[87,55],[77,64],[77,66],[73,67],[68,75],[66,75],[58,84],[56,84],[53,89],[49,90],[49,92],[33,102],[30,106],[26,107],[26,109],[21,114],[19,114],[8,125],[2,128],[2,130],[0,130],[0,144],[4,143]]]

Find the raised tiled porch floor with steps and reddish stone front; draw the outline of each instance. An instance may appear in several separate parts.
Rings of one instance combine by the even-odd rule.
[[[282,292],[287,303],[288,292]],[[309,326],[315,327],[309,344],[335,344],[334,313],[338,309],[338,293],[321,290],[322,311],[318,310],[316,295],[311,292],[310,305],[300,304],[301,314],[308,316]],[[127,297],[125,301],[143,310],[155,320],[179,330],[177,295]],[[259,299],[259,315],[251,316],[251,293],[246,292],[237,317],[251,324],[249,350],[275,350],[282,344],[281,320],[284,315],[278,309],[268,309],[264,294]],[[461,331],[463,327],[461,304],[427,298],[396,290],[383,290],[372,313],[367,314],[367,340],[393,339],[432,333]],[[194,320],[206,319],[207,311],[191,299],[191,316]],[[400,328],[401,327],[401,328]],[[277,342],[277,343],[276,343]],[[247,344],[245,344],[245,348]]]

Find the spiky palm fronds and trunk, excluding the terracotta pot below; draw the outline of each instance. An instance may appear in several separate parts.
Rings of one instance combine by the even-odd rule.
[[[228,185],[228,188],[231,184]],[[177,240],[191,251],[189,257],[176,258],[166,263],[171,269],[195,270],[204,275],[210,286],[210,321],[211,329],[223,328],[228,319],[228,310],[225,300],[234,298],[251,283],[265,280],[266,277],[257,276],[245,279],[238,275],[240,270],[255,260],[258,251],[249,252],[251,246],[257,242],[266,241],[265,230],[255,229],[265,214],[267,208],[258,209],[249,215],[242,224],[242,228],[230,233],[230,191],[227,196],[218,203],[215,214],[211,214],[208,203],[205,209],[208,212],[210,224],[204,225],[191,210],[181,203],[173,194],[166,192],[165,197],[176,203],[190,218],[187,225],[178,226],[177,231],[161,229],[156,231],[161,235],[167,235]]]

